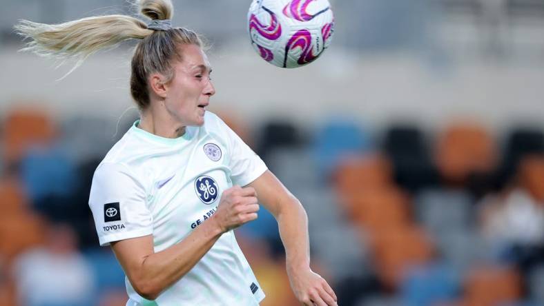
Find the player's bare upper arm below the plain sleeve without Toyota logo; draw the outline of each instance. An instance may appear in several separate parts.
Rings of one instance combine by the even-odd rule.
[[[249,183],[255,189],[259,203],[269,210],[276,218],[282,212],[283,205],[292,205],[298,200],[270,171],[266,170],[255,181]]]

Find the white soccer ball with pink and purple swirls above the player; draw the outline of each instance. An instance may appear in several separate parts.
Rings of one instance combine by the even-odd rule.
[[[255,51],[282,68],[315,61],[329,47],[334,32],[328,0],[253,0],[247,19]]]

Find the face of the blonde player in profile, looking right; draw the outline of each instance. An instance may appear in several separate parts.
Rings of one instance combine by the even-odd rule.
[[[206,54],[197,45],[184,45],[183,61],[173,63],[173,69],[175,76],[166,85],[166,110],[183,126],[203,125],[206,107],[215,94]]]

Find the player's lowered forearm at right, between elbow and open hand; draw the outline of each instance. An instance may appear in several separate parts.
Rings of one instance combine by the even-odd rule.
[[[309,267],[310,243],[308,236],[308,217],[304,207],[294,198],[280,205],[282,210],[276,217],[280,237],[285,247],[287,268]]]

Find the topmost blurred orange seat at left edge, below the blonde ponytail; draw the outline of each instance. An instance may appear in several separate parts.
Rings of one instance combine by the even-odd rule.
[[[40,110],[12,110],[3,123],[3,157],[7,163],[21,159],[31,145],[50,143],[57,134],[55,125],[46,112]]]

